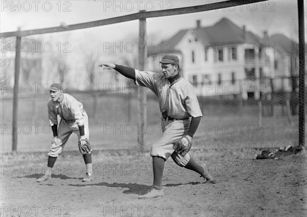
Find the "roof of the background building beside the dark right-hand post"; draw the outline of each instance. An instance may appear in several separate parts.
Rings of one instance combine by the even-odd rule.
[[[268,42],[273,42],[280,53],[298,53],[298,44],[285,35],[274,34],[268,38]]]

